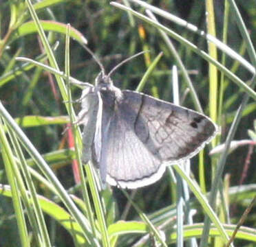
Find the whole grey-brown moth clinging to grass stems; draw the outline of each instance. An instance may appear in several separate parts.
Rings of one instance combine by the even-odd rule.
[[[100,67],[95,86],[82,91],[78,121],[84,125],[83,162],[92,161],[103,183],[128,189],[155,183],[167,165],[192,158],[215,137],[209,117],[121,91],[110,78],[116,67],[107,75]]]

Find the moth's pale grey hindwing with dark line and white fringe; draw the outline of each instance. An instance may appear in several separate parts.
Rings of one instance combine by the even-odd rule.
[[[103,104],[103,108],[106,107]],[[109,110],[109,108],[108,108]],[[147,149],[134,131],[138,110],[123,100],[103,110],[100,174],[107,183],[135,189],[154,183],[165,170],[158,154]],[[118,182],[118,183],[117,183]]]

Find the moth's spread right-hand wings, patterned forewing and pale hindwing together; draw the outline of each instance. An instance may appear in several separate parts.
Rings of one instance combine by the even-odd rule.
[[[103,131],[100,167],[107,169],[107,182],[134,189],[160,179],[164,162],[177,163],[197,154],[217,128],[193,110],[122,91]]]

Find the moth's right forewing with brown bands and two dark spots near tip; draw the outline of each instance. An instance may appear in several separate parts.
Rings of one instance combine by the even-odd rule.
[[[177,163],[195,156],[217,133],[213,121],[194,110],[134,91],[123,95],[138,115],[136,135],[162,161]]]

